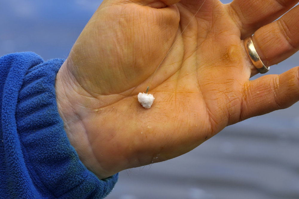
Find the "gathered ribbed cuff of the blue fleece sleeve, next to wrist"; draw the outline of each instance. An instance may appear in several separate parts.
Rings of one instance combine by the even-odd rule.
[[[23,55],[26,59],[28,53]],[[41,59],[33,53],[30,58]],[[15,74],[22,81],[14,115],[24,168],[31,179],[27,189],[30,187],[37,198],[104,198],[114,187],[118,174],[98,179],[79,160],[66,136],[54,89],[63,61],[37,61],[41,63],[29,66],[23,74]]]

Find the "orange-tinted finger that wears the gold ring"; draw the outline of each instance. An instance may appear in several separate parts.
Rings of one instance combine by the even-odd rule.
[[[299,50],[299,5],[255,31],[252,41],[266,67],[289,58]],[[252,67],[252,74],[257,70]]]

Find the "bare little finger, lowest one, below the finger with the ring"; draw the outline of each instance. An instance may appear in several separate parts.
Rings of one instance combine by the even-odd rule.
[[[245,84],[240,121],[274,110],[285,109],[299,100],[299,67],[280,75],[265,75]]]

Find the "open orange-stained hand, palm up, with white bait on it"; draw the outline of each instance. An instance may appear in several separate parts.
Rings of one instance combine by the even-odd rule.
[[[257,70],[243,39],[254,33],[266,66],[288,58],[299,47],[299,7],[271,21],[297,2],[104,1],[57,74],[58,108],[80,160],[106,178],[294,104],[298,67],[250,81]],[[137,100],[147,86],[150,109]]]

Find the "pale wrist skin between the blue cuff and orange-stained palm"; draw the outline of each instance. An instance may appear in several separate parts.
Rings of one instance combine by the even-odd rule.
[[[98,178],[107,178],[116,172],[104,171],[94,156],[86,132],[86,124],[84,124],[86,113],[89,111],[81,103],[84,98],[88,97],[82,95],[80,85],[68,70],[68,64],[68,60],[62,64],[55,80],[58,112],[63,120],[66,135],[76,150],[80,161]]]

